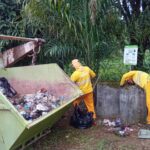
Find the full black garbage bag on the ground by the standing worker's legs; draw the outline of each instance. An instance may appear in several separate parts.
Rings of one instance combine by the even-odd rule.
[[[93,112],[87,112],[79,106],[74,107],[73,115],[70,119],[70,124],[79,129],[86,129],[93,124]]]

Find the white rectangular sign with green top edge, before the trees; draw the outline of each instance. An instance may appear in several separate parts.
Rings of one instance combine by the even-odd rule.
[[[124,60],[126,65],[137,65],[138,46],[128,45],[124,48]]]

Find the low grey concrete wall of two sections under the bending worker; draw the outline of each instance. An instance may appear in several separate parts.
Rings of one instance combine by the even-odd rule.
[[[97,86],[96,112],[101,118],[120,117],[126,124],[145,122],[146,101],[144,91],[137,86]]]

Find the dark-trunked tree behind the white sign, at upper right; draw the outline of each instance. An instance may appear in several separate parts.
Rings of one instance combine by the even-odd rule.
[[[144,54],[150,46],[150,1],[112,0],[122,14],[128,35],[128,44],[138,45],[137,69],[143,69]]]

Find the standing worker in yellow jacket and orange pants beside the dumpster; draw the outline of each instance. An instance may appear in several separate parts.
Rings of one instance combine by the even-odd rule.
[[[75,68],[75,71],[71,75],[71,80],[79,86],[80,90],[84,94],[80,98],[76,99],[73,105],[79,105],[83,99],[88,112],[93,112],[93,119],[96,119],[93,100],[93,88],[91,83],[91,78],[94,78],[96,74],[89,67],[82,66],[78,59],[72,60],[72,66]]]

